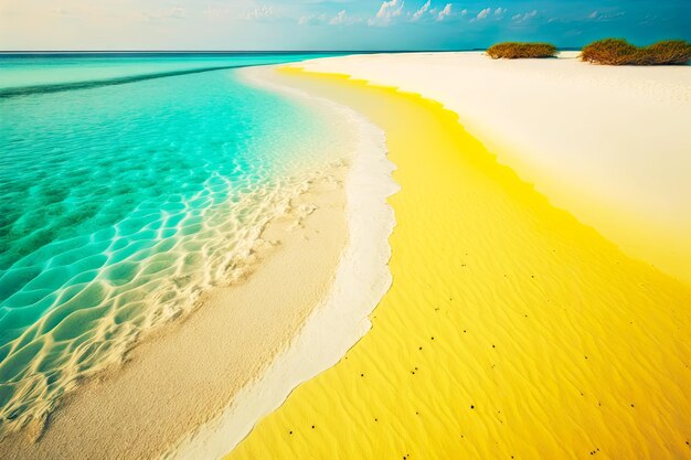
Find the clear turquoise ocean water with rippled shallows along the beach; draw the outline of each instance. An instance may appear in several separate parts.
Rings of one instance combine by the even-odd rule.
[[[342,161],[325,114],[232,68],[304,57],[0,57],[0,436],[242,276]]]

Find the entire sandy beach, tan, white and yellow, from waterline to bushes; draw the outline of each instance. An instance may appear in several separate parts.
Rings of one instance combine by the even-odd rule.
[[[688,67],[410,53],[242,76],[320,105],[352,156],[247,276],[3,459],[689,457]]]

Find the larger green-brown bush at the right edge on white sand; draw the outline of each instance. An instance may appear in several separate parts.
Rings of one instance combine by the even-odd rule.
[[[603,65],[687,65],[690,60],[691,43],[685,40],[636,46],[623,39],[605,39],[581,52],[581,61]]]

